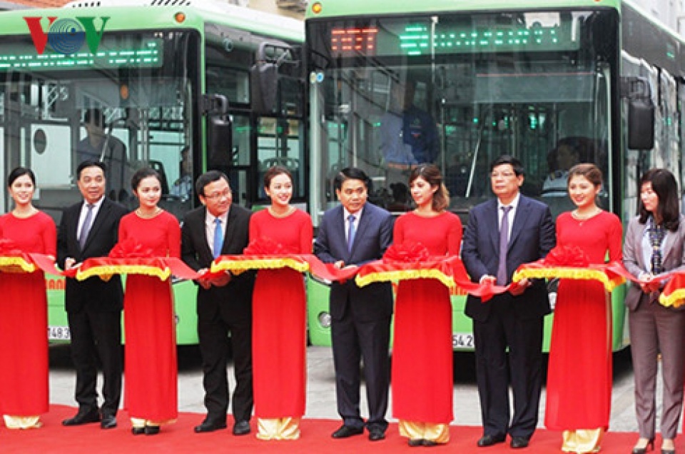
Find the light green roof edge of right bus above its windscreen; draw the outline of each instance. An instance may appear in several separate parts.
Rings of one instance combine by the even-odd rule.
[[[320,4],[321,12],[312,9]],[[306,19],[377,14],[441,13],[445,11],[512,11],[518,9],[619,8],[620,0],[316,0],[310,1]],[[363,12],[360,12],[363,11]]]

